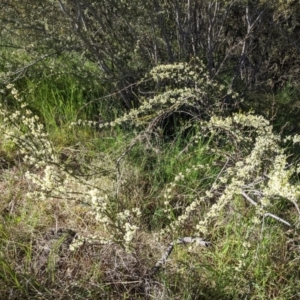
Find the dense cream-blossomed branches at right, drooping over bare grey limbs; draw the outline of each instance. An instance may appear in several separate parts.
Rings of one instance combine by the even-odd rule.
[[[282,140],[262,116],[239,113],[227,118],[213,116],[209,121],[201,122],[201,132],[194,137],[194,142],[206,137],[210,137],[207,153],[211,153],[219,162],[222,161],[222,168],[211,187],[200,192],[200,195],[197,191],[197,196],[185,208],[184,213],[162,233],[177,232],[196,216],[194,234],[207,234],[213,221],[222,223],[221,211],[231,205],[236,197],[243,197],[255,206],[255,224],[260,224],[264,217],[272,217],[290,226],[288,221],[269,212],[279,199],[290,201],[300,218],[300,187],[292,180],[299,166],[288,163],[289,155],[282,147],[282,143],[287,140],[298,143],[298,136]],[[177,184],[184,181],[190,172],[203,169],[207,171],[207,168],[210,166],[194,166],[187,169],[186,174],[175,176],[165,192],[166,213],[173,215],[169,199]],[[214,199],[214,204],[204,218],[199,220],[199,208],[210,199]]]

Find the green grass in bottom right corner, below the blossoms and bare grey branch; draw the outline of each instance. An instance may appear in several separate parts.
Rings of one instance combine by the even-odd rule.
[[[173,277],[168,271],[165,274],[170,276],[167,283],[173,297],[291,299],[296,295],[299,283],[290,277],[298,271],[295,262],[291,263],[280,226],[262,230],[251,226],[248,218],[232,218],[211,235],[211,249],[193,249],[189,254],[186,249],[177,249]]]

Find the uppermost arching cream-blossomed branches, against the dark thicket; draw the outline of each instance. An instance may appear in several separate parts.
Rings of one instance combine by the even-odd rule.
[[[139,84],[149,81],[156,86],[155,92],[151,93],[154,96],[139,97],[139,108],[131,109],[110,122],[97,124],[97,122],[80,119],[72,125],[106,128],[129,122],[135,126],[148,126],[157,124],[177,111],[192,116],[198,115],[198,117],[201,112],[203,118],[224,113],[226,105],[229,104],[225,99],[230,99],[232,104],[236,104],[239,96],[231,89],[226,89],[225,85],[210,79],[204,64],[198,59],[192,60],[189,64],[175,63],[154,67]]]

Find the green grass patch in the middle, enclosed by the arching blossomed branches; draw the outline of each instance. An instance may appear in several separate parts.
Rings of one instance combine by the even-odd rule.
[[[207,154],[207,145],[206,141],[194,144],[190,137],[183,138],[178,132],[177,138],[171,142],[154,143],[147,148],[144,143],[138,143],[132,149],[129,163],[137,168],[139,177],[137,181],[133,178],[129,184],[132,188],[140,188],[144,199],[141,205],[149,228],[161,229],[170,222],[164,213],[164,188],[174,181],[176,175],[185,174],[185,180],[174,190],[172,202],[175,206],[177,202],[182,207],[188,205],[197,197],[197,191],[206,189],[213,182],[219,167],[214,165],[215,156]],[[186,170],[195,165],[210,166],[209,172],[186,174]],[[181,211],[174,210],[174,214],[178,215]]]

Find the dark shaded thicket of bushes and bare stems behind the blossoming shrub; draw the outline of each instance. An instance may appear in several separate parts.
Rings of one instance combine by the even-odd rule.
[[[43,62],[63,57],[55,72],[118,92],[112,100],[128,109],[139,106],[134,83],[147,71],[197,57],[212,78],[245,96],[244,109],[277,112],[278,128],[289,120],[287,130],[298,129],[298,1],[5,0],[0,8],[2,47],[18,54],[1,53],[2,81],[53,73]],[[153,90],[146,84],[145,92]],[[278,93],[284,103],[270,96]]]

